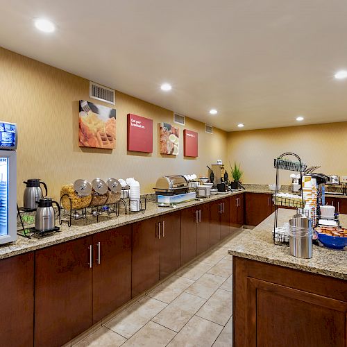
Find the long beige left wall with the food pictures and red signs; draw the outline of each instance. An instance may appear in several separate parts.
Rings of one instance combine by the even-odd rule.
[[[207,174],[206,164],[226,160],[227,133],[187,119],[180,126],[180,154],[158,153],[158,123],[172,123],[172,112],[132,96],[116,93],[116,149],[78,147],[78,100],[89,100],[89,81],[0,48],[0,119],[18,124],[17,198],[22,204],[27,178],[41,178],[49,196],[58,198],[61,185],[77,178],[127,178],[139,180],[142,192],[153,192],[159,176]],[[97,103],[98,101],[96,101]],[[107,104],[105,104],[107,105]],[[126,115],[153,119],[153,153],[127,153]],[[183,157],[183,128],[198,131],[196,159]]]

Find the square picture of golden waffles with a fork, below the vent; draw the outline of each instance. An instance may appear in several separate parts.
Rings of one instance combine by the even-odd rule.
[[[80,100],[79,110],[79,146],[115,149],[116,110],[85,100]]]

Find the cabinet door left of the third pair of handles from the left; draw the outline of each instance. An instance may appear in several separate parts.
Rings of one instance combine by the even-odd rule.
[[[185,264],[196,257],[196,228],[198,224],[198,211],[194,208],[185,208],[181,211],[181,248],[180,262]]]

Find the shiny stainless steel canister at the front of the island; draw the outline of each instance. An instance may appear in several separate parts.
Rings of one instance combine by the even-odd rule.
[[[296,217],[296,216],[294,216]],[[312,258],[312,222],[307,217],[296,217],[289,221],[289,248],[294,257]]]

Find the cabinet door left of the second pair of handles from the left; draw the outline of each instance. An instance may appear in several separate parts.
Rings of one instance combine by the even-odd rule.
[[[158,218],[133,223],[131,295],[134,298],[159,281]]]

